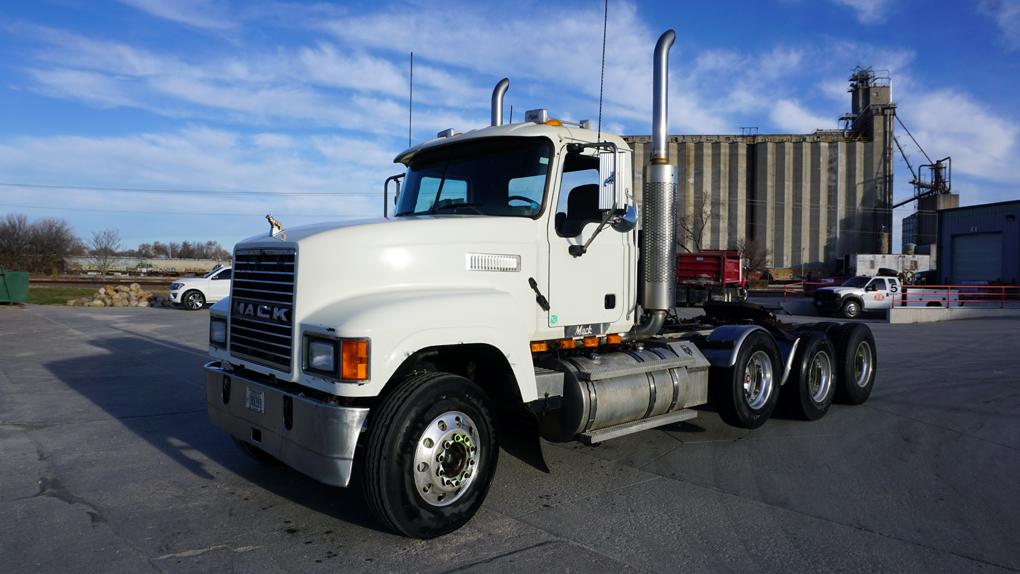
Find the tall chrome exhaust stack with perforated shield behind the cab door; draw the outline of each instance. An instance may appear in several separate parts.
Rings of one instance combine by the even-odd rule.
[[[676,33],[667,30],[655,45],[652,84],[652,154],[645,166],[642,215],[641,304],[648,320],[634,326],[636,337],[654,336],[676,301],[676,175],[666,148],[669,49]]]

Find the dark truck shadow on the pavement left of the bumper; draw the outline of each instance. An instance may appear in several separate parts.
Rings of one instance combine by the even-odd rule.
[[[213,425],[206,414],[202,365],[208,358],[204,353],[126,331],[123,335],[95,336],[89,344],[96,353],[45,364],[53,376],[91,403],[68,401],[58,409],[63,415],[55,413],[61,423],[112,419],[201,481],[224,482],[230,490],[254,485],[314,512],[381,529],[371,518],[357,484],[337,488],[283,465],[256,462]],[[108,438],[123,442],[125,453],[140,452],[132,449],[130,439],[115,436],[115,431],[99,432],[99,440],[103,440],[102,434],[114,434]],[[134,462],[141,462],[143,468],[159,466],[158,461]],[[195,486],[199,487],[204,485]],[[250,504],[260,508],[255,498]],[[265,507],[264,502],[261,507]]]

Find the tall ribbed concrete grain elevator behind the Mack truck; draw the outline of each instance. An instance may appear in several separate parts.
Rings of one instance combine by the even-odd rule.
[[[819,270],[844,255],[889,252],[896,104],[888,79],[870,69],[855,70],[850,93],[844,129],[669,138],[677,219],[705,221],[703,249],[754,240],[772,267]],[[651,137],[624,139],[640,191]],[[690,234],[677,237],[694,249]]]

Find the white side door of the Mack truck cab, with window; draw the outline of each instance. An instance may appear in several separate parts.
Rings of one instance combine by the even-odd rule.
[[[628,180],[629,174],[621,171],[619,175],[619,180]],[[570,246],[592,239],[602,216],[598,158],[566,155],[548,236],[548,324],[564,327],[565,336],[604,334],[608,323],[624,315],[628,233],[607,224],[583,255],[575,257],[569,251]]]

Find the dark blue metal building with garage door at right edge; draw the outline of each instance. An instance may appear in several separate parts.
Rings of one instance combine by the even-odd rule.
[[[950,284],[1017,284],[1020,201],[938,212],[939,280]]]

